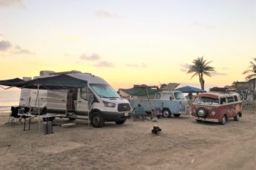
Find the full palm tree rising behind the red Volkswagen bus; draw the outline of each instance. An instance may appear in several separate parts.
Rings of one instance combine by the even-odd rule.
[[[203,59],[203,56],[197,57],[197,59],[193,60],[193,65],[190,65],[188,73],[194,73],[191,78],[198,75],[201,89],[205,90],[205,80],[203,79],[203,75],[207,75],[211,77],[211,71],[215,71],[215,68],[210,66],[209,63],[205,59]]]

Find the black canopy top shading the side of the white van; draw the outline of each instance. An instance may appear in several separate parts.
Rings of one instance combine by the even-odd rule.
[[[50,77],[40,77],[28,81],[19,81],[18,79],[2,80],[0,81],[0,85],[26,89],[38,89],[39,87],[40,90],[66,90],[84,87],[87,85],[87,81],[71,77],[66,74],[59,74]]]

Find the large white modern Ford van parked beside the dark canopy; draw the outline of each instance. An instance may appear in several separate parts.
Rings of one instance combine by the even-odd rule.
[[[37,90],[22,89],[20,107],[26,110],[32,108],[36,112],[39,106],[41,114],[59,114],[70,120],[89,118],[93,127],[101,127],[105,122],[111,121],[123,124],[130,117],[130,103],[120,98],[101,77],[80,71],[41,71],[40,76],[34,79],[56,74],[68,74],[86,80],[87,87],[73,90],[39,90],[39,97]]]

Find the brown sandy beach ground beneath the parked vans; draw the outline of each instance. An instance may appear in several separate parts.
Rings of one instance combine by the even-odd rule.
[[[10,126],[0,116],[1,169],[255,169],[256,109],[239,122],[197,123],[189,115],[151,121],[106,123],[96,129],[86,120],[73,127],[53,126],[53,134]],[[68,123],[64,119],[56,125]],[[151,134],[154,124],[163,132]],[[41,127],[42,130],[42,127]]]

